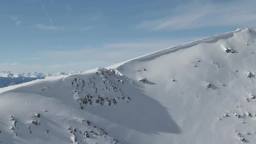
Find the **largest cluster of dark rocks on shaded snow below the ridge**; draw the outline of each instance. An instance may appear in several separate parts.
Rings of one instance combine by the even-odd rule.
[[[71,92],[81,109],[89,105],[117,105],[119,100],[125,100],[127,95],[121,89],[119,83],[124,83],[118,79],[120,75],[112,69],[99,69],[89,78],[75,78],[71,81],[74,90]],[[120,98],[121,96],[121,98]]]

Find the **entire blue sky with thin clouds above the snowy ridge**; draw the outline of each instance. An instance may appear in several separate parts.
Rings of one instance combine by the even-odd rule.
[[[0,71],[105,67],[249,26],[255,0],[0,0]]]

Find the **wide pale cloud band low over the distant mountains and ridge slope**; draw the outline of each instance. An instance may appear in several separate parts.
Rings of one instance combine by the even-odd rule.
[[[183,38],[171,40],[144,39],[138,42],[109,43],[102,46],[86,46],[84,49],[43,51],[29,59],[39,64],[0,63],[0,71],[12,72],[68,72],[86,71],[96,67],[106,67],[133,59],[170,46],[199,39]],[[68,48],[67,48],[68,49]],[[48,61],[43,64],[41,61]]]

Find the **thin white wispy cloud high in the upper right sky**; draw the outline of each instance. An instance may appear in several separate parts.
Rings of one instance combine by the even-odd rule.
[[[252,0],[236,3],[187,3],[176,7],[173,11],[164,11],[163,17],[143,20],[137,24],[138,29],[179,30],[207,26],[240,26],[244,23],[255,25],[256,11]],[[182,10],[182,11],[181,11]],[[168,14],[167,14],[168,13]],[[169,13],[176,13],[170,15]]]

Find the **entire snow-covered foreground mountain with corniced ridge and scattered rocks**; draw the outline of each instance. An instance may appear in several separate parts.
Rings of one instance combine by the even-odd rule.
[[[2,144],[256,143],[256,31],[0,88]]]

